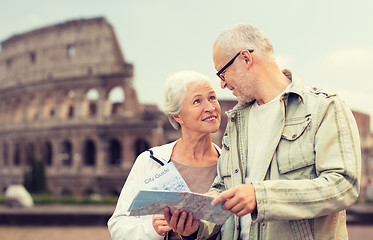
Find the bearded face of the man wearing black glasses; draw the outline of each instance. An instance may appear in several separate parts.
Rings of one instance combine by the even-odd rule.
[[[227,56],[216,46],[213,51],[215,69],[219,71],[234,56]],[[254,100],[254,78],[249,75],[245,60],[239,55],[236,60],[222,73],[224,80],[220,79],[222,89],[228,88],[236,96],[238,102],[245,103]]]

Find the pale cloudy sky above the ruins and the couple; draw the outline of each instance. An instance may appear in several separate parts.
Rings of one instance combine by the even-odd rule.
[[[371,0],[0,0],[0,41],[105,17],[134,65],[140,102],[162,109],[166,79],[182,70],[207,75],[220,99],[235,99],[220,89],[212,45],[223,29],[250,23],[271,39],[281,68],[336,92],[373,123],[372,9]]]

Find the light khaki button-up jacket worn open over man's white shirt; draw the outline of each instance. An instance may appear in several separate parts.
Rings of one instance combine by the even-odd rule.
[[[348,239],[345,209],[359,195],[361,150],[358,128],[336,95],[304,86],[288,70],[291,88],[281,98],[282,113],[266,154],[260,181],[253,182],[257,209],[250,240]],[[247,122],[252,103],[227,112],[218,176],[211,190],[244,183]],[[260,144],[260,143],[259,143]],[[201,221],[197,239],[219,228]],[[224,226],[223,239],[240,239],[239,218]]]

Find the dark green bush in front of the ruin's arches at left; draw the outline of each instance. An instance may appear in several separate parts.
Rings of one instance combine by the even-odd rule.
[[[30,193],[47,192],[44,163],[35,157],[31,159],[30,170],[25,173],[24,185]]]

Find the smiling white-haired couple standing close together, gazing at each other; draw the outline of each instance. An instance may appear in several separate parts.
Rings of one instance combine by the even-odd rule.
[[[220,33],[213,61],[221,87],[238,99],[222,149],[211,141],[221,112],[209,79],[175,73],[164,111],[182,137],[138,156],[108,221],[112,239],[348,239],[345,209],[359,195],[361,168],[351,110],[281,71],[270,40],[249,24]],[[234,215],[223,226],[169,208],[128,216],[138,183],[169,161],[191,191]]]

